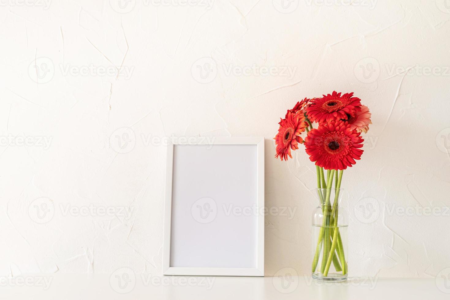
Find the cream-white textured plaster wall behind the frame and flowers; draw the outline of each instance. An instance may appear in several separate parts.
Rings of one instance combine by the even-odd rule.
[[[276,161],[272,138],[297,100],[333,90],[374,123],[344,172],[351,275],[450,267],[450,1],[122,4],[1,1],[2,275],[160,273],[166,154],[152,138],[171,135],[264,136],[266,205],[297,207],[266,217],[266,275],[309,273],[315,167],[302,148]]]

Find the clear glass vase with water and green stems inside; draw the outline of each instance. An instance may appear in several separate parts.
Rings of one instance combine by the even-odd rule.
[[[348,277],[348,214],[341,206],[343,189],[314,190],[320,205],[312,215],[312,277],[343,281]]]

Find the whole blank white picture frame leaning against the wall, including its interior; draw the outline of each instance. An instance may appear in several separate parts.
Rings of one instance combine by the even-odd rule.
[[[264,276],[264,138],[179,141],[167,146],[162,273]],[[196,203],[216,204],[214,219],[199,219]]]

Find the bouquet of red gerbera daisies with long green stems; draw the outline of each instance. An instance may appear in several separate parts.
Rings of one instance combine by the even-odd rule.
[[[336,270],[347,274],[347,263],[342,247],[338,224],[338,197],[343,170],[356,164],[361,158],[363,141],[361,133],[367,133],[370,121],[369,108],[353,93],[341,94],[334,91],[321,98],[303,99],[286,113],[279,122],[275,137],[276,155],[283,161],[292,158],[291,150],[298,144],[305,145],[305,151],[315,162],[317,188],[323,211],[323,224],[317,241],[312,264],[313,274],[327,277],[333,261]],[[314,128],[313,124],[317,125]],[[306,131],[306,138],[302,134]],[[325,177],[324,170],[327,171]],[[340,170],[338,172],[338,170]],[[334,180],[333,180],[334,179]],[[335,200],[331,206],[330,195],[334,182]],[[316,271],[323,246],[322,265]],[[336,251],[336,254],[335,254]],[[338,261],[340,260],[340,264]]]

